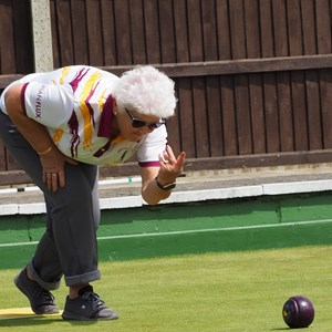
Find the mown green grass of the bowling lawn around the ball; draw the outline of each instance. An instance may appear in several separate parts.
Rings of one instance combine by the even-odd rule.
[[[120,320],[33,317],[0,320],[0,331],[283,331],[282,305],[295,294],[314,304],[308,331],[331,331],[331,257],[332,247],[305,247],[102,263],[93,286]],[[12,283],[17,272],[0,272],[1,309],[29,307]],[[66,288],[54,295],[62,309]]]

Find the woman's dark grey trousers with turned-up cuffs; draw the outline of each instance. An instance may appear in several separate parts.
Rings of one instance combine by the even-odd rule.
[[[62,276],[69,287],[100,279],[97,166],[66,164],[65,186],[52,193],[42,181],[39,155],[1,110],[0,138],[44,194],[45,232],[29,262],[34,279],[48,290],[59,288]]]

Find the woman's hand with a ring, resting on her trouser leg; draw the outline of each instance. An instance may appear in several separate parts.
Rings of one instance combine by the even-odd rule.
[[[64,165],[65,163],[77,165],[77,162],[62,154],[56,147],[53,147],[46,155],[40,156],[43,168],[43,181],[53,193],[58,191],[59,186],[65,185]]]

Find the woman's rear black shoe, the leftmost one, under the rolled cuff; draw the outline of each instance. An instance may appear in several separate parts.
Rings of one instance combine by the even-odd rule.
[[[48,290],[32,281],[27,276],[27,268],[15,278],[14,283],[18,289],[29,299],[31,309],[38,314],[59,313],[59,308],[54,303],[54,297]]]

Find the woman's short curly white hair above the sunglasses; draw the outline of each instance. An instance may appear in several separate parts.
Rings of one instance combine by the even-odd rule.
[[[152,65],[123,73],[112,94],[122,107],[165,118],[174,115],[177,102],[174,81]]]

